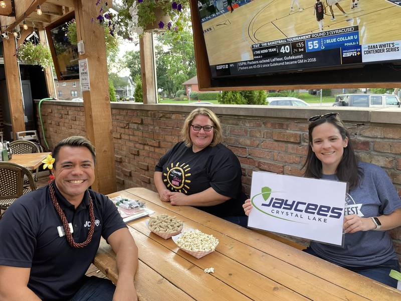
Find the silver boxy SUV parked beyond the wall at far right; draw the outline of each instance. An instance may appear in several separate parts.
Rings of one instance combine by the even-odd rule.
[[[370,108],[399,107],[397,95],[393,94],[339,94],[333,106],[356,106]]]

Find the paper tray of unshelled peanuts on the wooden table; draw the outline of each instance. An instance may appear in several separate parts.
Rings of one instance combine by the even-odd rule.
[[[154,234],[163,237],[164,239],[168,239],[171,236],[181,233],[183,222],[177,220],[175,216],[162,214],[149,218],[147,226]]]

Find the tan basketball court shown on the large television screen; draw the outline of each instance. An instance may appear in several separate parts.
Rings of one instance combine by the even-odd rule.
[[[319,32],[313,6],[316,0],[299,0],[302,11],[290,10],[291,0],[253,0],[202,24],[210,65],[253,59],[252,44]],[[326,1],[322,3],[327,6]],[[348,16],[333,5],[336,20],[330,21],[326,7],[324,31],[350,26],[359,27],[360,44],[397,40],[401,28],[401,6],[386,0],[360,0],[351,9],[352,0],[341,0]],[[224,51],[222,51],[224,50]]]

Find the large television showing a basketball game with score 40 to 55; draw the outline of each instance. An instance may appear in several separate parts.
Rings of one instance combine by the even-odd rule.
[[[401,82],[399,0],[195,3],[211,87]]]

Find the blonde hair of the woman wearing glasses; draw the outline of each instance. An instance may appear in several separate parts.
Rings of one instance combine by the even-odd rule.
[[[210,109],[196,108],[192,112],[190,112],[189,115],[186,117],[184,121],[184,126],[181,129],[181,136],[182,140],[185,142],[185,146],[187,147],[192,146],[192,141],[189,131],[192,121],[197,115],[208,116],[208,118],[213,122],[213,139],[209,145],[216,146],[217,144],[221,143],[223,141],[223,134],[219,118]]]

